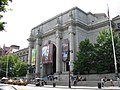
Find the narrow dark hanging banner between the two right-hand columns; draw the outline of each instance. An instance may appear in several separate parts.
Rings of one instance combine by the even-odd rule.
[[[62,60],[63,61],[68,60],[68,54],[69,54],[69,40],[64,39],[62,43]]]

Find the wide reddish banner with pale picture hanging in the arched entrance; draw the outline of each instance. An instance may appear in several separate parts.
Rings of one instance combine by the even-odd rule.
[[[42,63],[52,63],[53,61],[53,44],[48,44],[42,48]]]

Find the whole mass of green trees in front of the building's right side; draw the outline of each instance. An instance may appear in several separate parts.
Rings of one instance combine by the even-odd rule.
[[[120,38],[114,34],[115,51],[118,71],[120,71]],[[80,42],[80,51],[74,62],[74,73],[114,73],[114,57],[111,33],[104,30],[99,33],[97,43],[91,44],[89,40]]]

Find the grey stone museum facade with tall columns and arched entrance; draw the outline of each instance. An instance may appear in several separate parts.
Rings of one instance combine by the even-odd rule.
[[[36,49],[36,75],[44,77],[49,74],[62,75],[73,70],[75,53],[79,50],[79,43],[89,38],[96,42],[101,30],[109,28],[108,17],[104,13],[86,13],[74,7],[61,13],[31,30],[29,41],[28,64],[32,65],[32,49]],[[67,59],[63,60],[63,41],[68,39]],[[52,63],[43,63],[43,47],[53,44]]]

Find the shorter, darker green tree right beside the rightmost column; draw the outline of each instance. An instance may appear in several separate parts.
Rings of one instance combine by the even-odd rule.
[[[89,39],[81,41],[79,45],[80,51],[77,52],[77,60],[74,62],[74,73],[90,73],[92,69],[92,61],[94,54],[94,46],[89,42]]]

